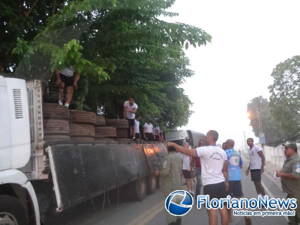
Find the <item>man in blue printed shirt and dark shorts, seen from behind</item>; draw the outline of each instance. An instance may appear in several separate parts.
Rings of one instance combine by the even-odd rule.
[[[227,155],[228,161],[228,181],[229,181],[229,188],[228,194],[231,197],[241,198],[243,196],[242,189],[241,189],[241,174],[240,169],[242,168],[242,160],[240,154],[237,150],[233,149],[234,147],[234,140],[228,139],[225,142],[225,152]],[[231,208],[228,208],[228,219],[232,221],[231,215]],[[250,225],[251,220],[249,216],[245,216],[245,224]]]

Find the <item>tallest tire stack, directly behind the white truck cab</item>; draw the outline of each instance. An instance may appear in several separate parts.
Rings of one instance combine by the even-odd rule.
[[[43,103],[44,140],[70,140],[69,110],[55,103]]]

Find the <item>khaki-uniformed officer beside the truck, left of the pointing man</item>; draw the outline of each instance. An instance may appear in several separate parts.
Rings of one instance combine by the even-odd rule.
[[[182,159],[176,153],[174,147],[169,146],[167,148],[168,154],[164,157],[163,165],[160,171],[155,171],[155,175],[160,175],[162,183],[162,191],[164,198],[166,198],[172,191],[178,190],[181,188],[181,169],[182,169]],[[180,203],[180,202],[178,202]],[[171,215],[166,212],[166,220],[168,224],[171,225],[180,225],[181,217]]]

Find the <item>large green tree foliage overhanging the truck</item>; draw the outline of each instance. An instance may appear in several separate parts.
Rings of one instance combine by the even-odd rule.
[[[164,127],[184,125],[191,102],[179,85],[193,71],[183,47],[206,44],[211,36],[188,24],[159,19],[176,16],[166,11],[173,3],[4,0],[2,70],[48,80],[55,67],[72,64],[84,75],[74,98],[92,109],[99,103],[121,115],[123,101],[134,95],[144,120]]]

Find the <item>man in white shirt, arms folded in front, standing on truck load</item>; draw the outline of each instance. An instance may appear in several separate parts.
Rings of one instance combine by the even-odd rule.
[[[124,101],[123,104],[123,118],[126,118],[129,123],[129,128],[128,128],[128,137],[132,137],[133,140],[135,140],[135,112],[137,110],[137,104],[134,102],[134,97],[129,97],[128,101]],[[130,136],[130,134],[132,136]]]

